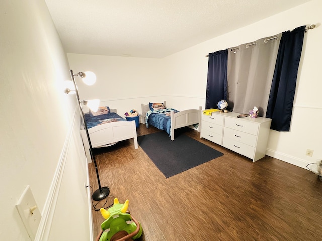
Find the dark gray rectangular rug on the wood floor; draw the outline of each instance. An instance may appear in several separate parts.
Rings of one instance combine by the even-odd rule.
[[[166,132],[156,132],[139,136],[138,144],[166,178],[223,155],[184,134],[171,141]]]

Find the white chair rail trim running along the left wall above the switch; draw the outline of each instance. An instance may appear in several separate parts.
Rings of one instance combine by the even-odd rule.
[[[69,128],[69,131],[66,135],[65,143],[62,148],[58,165],[54,174],[54,178],[52,180],[47,200],[45,202],[44,208],[43,208],[43,213],[42,213],[42,218],[38,227],[38,231],[35,237],[35,241],[43,241],[43,240],[48,240],[49,233],[50,233],[50,228],[51,224],[53,221],[54,213],[55,213],[55,208],[58,200],[58,195],[59,195],[59,189],[61,186],[61,180],[63,177],[63,172],[66,164],[66,158],[68,154],[68,149],[69,149],[69,143],[70,143],[70,138],[72,136],[72,131],[73,127],[75,124],[75,119],[76,119],[76,112],[77,109],[74,111],[74,117],[73,121],[71,123],[71,127]],[[91,214],[92,216],[92,214]]]

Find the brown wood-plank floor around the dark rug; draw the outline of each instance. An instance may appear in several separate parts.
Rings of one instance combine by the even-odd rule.
[[[157,131],[143,124],[137,129],[138,136]],[[129,199],[142,241],[322,239],[322,181],[314,173],[268,156],[252,163],[192,129],[180,135],[224,155],[166,179],[132,140],[96,150],[101,185],[111,195],[94,201],[96,208],[114,197]],[[93,163],[89,172],[96,190]],[[104,221],[99,211],[93,221],[97,235]]]

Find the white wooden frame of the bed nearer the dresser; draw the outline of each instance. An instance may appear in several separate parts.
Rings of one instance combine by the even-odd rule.
[[[166,101],[163,102],[163,105],[165,106],[165,108],[167,108]],[[146,113],[150,110],[150,103],[141,104],[141,109],[143,123],[145,123]],[[201,106],[199,106],[199,109],[187,109],[183,111],[178,111],[176,113],[174,111],[170,111],[171,140],[175,140],[175,129],[200,123],[201,113]],[[199,128],[198,132],[200,132]]]

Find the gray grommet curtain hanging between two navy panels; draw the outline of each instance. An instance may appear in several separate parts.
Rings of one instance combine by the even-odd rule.
[[[228,110],[265,117],[281,34],[228,49]]]

